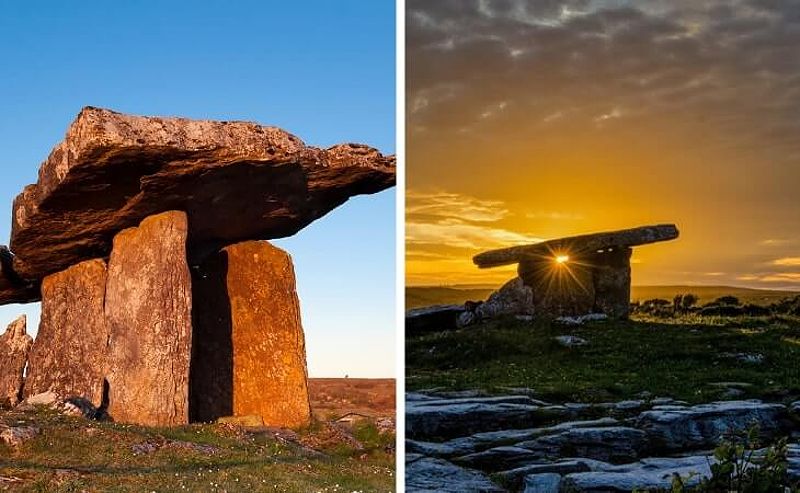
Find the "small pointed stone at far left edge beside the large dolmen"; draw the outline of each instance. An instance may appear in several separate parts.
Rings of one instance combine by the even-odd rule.
[[[33,339],[26,331],[25,315],[11,322],[0,335],[0,407],[14,406],[22,391],[25,363]]]

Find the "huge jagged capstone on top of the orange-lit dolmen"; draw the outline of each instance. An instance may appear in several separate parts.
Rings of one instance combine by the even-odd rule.
[[[87,107],[14,201],[14,271],[36,281],[103,258],[116,233],[168,210],[188,214],[194,265],[229,244],[292,235],[394,181],[394,157],[363,145],[318,149],[254,123]]]

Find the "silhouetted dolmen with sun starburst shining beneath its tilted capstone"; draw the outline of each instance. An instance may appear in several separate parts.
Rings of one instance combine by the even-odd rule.
[[[666,224],[481,253],[473,259],[478,267],[516,263],[519,277],[462,316],[462,323],[500,314],[605,313],[625,318],[630,306],[631,247],[677,237],[675,225]]]

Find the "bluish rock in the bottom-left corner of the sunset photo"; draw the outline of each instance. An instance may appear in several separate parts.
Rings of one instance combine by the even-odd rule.
[[[409,493],[502,493],[484,474],[458,467],[443,459],[419,455],[406,458],[406,491]]]

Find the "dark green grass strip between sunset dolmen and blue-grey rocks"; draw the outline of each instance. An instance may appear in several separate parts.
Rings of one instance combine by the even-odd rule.
[[[567,348],[559,335],[586,339]],[[736,353],[761,354],[743,363]],[[600,402],[642,392],[692,403],[725,397],[719,382],[742,382],[743,398],[800,398],[800,319],[639,317],[565,327],[501,319],[406,342],[407,388],[533,389],[553,401]]]

